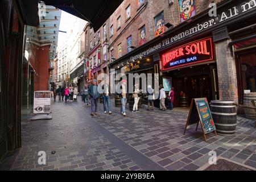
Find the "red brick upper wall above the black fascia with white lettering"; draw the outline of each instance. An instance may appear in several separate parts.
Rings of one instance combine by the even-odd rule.
[[[146,27],[146,40],[147,42],[155,38],[155,25],[154,17],[164,12],[164,22],[171,23],[175,26],[181,23],[179,14],[179,3],[174,1],[172,6],[168,5],[167,0],[151,0],[147,2],[146,7],[141,11],[138,9],[138,0],[125,0],[118,7],[117,10],[110,16],[109,24],[114,26],[114,36],[110,38],[110,45],[114,48],[114,58],[118,59],[118,45],[122,44],[122,55],[127,53],[127,38],[132,36],[133,46],[139,47],[139,28],[143,25]],[[208,9],[210,2],[220,3],[224,0],[197,0],[196,1],[196,13],[199,15],[203,11]],[[131,18],[127,20],[126,8],[131,6]],[[121,16],[121,28],[117,30],[117,18]],[[109,27],[110,27],[109,26]],[[167,31],[167,29],[165,30]]]

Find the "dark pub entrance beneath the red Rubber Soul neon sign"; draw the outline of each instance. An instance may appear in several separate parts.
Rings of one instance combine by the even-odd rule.
[[[198,65],[163,73],[172,78],[175,107],[189,107],[193,98],[218,99],[216,64]]]

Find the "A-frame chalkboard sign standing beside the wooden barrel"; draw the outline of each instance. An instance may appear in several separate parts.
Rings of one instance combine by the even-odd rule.
[[[197,123],[196,131],[199,125],[202,127],[204,140],[206,141],[206,134],[214,132],[216,133],[216,127],[214,125],[212,114],[210,113],[209,104],[207,98],[193,98],[188,114],[187,125],[184,130],[184,135],[187,131],[187,127]]]

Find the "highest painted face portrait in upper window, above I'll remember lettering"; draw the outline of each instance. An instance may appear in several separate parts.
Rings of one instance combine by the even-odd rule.
[[[179,0],[180,21],[185,22],[196,15],[196,0]]]

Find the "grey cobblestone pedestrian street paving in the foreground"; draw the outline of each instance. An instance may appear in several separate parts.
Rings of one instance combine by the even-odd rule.
[[[112,111],[104,114],[100,104],[98,115],[91,117],[80,98],[53,103],[52,120],[22,122],[22,148],[0,169],[204,170],[210,151],[256,169],[254,121],[238,117],[234,137],[209,134],[204,142],[201,129],[192,127],[183,135],[188,113],[142,109],[123,117],[118,108]],[[39,151],[46,151],[46,165],[38,164]]]

